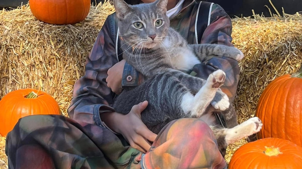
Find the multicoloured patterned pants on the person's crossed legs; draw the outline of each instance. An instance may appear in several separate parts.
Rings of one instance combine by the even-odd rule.
[[[226,168],[203,121],[167,124],[143,154],[107,128],[59,115],[21,118],[6,139],[9,168]]]

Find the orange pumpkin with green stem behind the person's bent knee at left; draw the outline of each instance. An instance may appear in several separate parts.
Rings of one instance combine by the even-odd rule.
[[[34,89],[19,89],[0,100],[0,135],[6,136],[19,118],[27,115],[60,115],[56,100],[49,94]]]

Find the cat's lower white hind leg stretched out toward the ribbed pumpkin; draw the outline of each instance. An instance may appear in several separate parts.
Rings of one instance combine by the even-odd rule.
[[[262,121],[258,117],[250,118],[234,128],[226,129],[226,143],[233,144],[244,137],[258,133],[261,128]]]

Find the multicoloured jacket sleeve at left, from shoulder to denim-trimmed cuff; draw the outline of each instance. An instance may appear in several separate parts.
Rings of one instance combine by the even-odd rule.
[[[117,63],[115,44],[110,27],[112,20],[108,16],[85,64],[85,75],[76,81],[73,99],[68,108],[71,118],[83,122],[103,125],[100,112],[114,111],[113,93],[107,87],[107,71]]]

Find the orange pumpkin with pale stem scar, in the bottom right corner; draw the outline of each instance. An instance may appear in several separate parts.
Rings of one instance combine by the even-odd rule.
[[[300,169],[302,147],[280,138],[265,138],[241,146],[233,154],[229,169]]]

